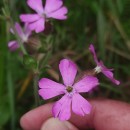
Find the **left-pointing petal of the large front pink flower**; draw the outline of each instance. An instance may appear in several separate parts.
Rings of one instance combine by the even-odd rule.
[[[56,83],[47,78],[42,78],[39,81],[39,87],[41,88],[39,90],[39,95],[43,99],[49,99],[49,98],[52,98],[52,97],[65,93],[64,85]]]

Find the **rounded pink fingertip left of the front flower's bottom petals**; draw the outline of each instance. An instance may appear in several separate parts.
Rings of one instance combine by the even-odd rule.
[[[20,125],[24,130],[39,130],[43,122],[52,117],[52,104],[46,104],[24,114]]]

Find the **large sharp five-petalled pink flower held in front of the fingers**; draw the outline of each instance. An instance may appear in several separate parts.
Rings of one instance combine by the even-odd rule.
[[[64,84],[54,82],[47,78],[42,78],[39,81],[39,95],[43,99],[49,99],[61,94],[64,96],[57,101],[53,108],[52,113],[54,117],[60,120],[68,120],[72,111],[80,116],[89,114],[91,105],[79,93],[88,92],[98,85],[98,79],[93,76],[86,76],[80,81],[74,83],[77,67],[75,63],[68,59],[63,59],[59,64],[60,73],[63,78]]]

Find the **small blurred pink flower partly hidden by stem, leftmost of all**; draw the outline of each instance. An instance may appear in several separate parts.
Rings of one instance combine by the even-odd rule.
[[[15,30],[19,38],[21,39],[22,43],[25,43],[28,41],[28,38],[31,35],[31,30],[28,28],[27,24],[25,24],[24,29],[22,29],[19,23],[15,23]],[[15,35],[15,32],[13,29],[11,29],[11,33]],[[15,51],[16,49],[19,48],[19,44],[16,40],[13,40],[8,43],[8,47],[10,51]]]

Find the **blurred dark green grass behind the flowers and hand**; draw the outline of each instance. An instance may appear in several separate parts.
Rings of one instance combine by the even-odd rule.
[[[6,1],[6,0],[5,0]],[[129,0],[64,0],[68,19],[54,20],[54,46],[47,64],[55,71],[43,70],[43,75],[55,77],[58,62],[68,57],[80,70],[95,67],[88,50],[96,47],[98,57],[114,68],[119,87],[104,76],[99,88],[90,97],[118,99],[130,103],[130,1]],[[11,17],[19,21],[21,13],[32,12],[26,0],[10,0]],[[0,130],[19,130],[19,119],[33,108],[32,75],[23,66],[18,52],[9,52],[7,43],[14,39],[9,33],[8,19],[3,18],[0,1]],[[42,35],[41,41],[44,40]],[[52,76],[53,75],[53,76]]]

